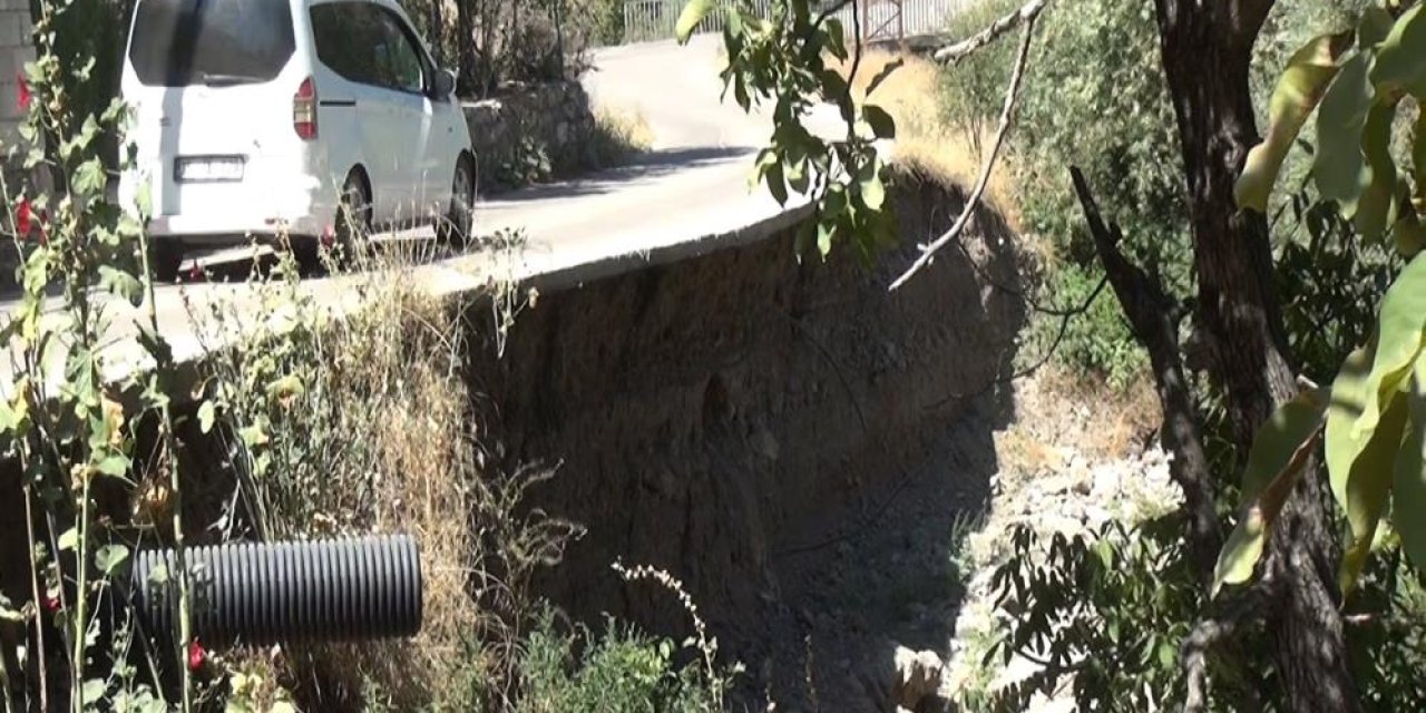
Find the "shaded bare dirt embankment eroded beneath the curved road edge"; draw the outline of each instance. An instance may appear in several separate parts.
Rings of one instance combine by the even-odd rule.
[[[780,710],[883,707],[897,643],[944,653],[953,522],[995,472],[1024,321],[985,278],[1014,285],[1018,257],[985,212],[888,292],[963,205],[918,177],[896,194],[906,241],[873,267],[800,264],[789,232],[542,295],[502,358],[472,349],[486,438],[512,465],[560,462],[539,505],[588,526],[545,593],[686,633],[667,592],[610,563],[663,568]]]

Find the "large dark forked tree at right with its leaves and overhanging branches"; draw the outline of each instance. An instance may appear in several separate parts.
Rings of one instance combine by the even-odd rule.
[[[961,220],[945,235],[925,245],[921,258],[893,287],[915,274],[937,250],[958,240],[960,231],[967,224],[967,217],[971,215],[975,202],[984,193],[1005,134],[1014,123],[1015,98],[1022,77],[1028,71],[1028,48],[1035,20],[1050,1],[1030,0],[1018,11],[994,21],[984,31],[934,53],[937,60],[954,63],[965,54],[997,41],[1017,27],[1022,30],[1000,130]],[[1061,3],[1070,1],[1072,0],[1061,0]],[[1410,3],[1406,4],[1410,6]],[[847,6],[848,3],[844,1],[814,14],[806,0],[780,0],[774,3],[770,19],[760,19],[754,13],[744,11],[732,13],[724,23],[724,43],[730,57],[724,80],[733,88],[739,103],[744,108],[757,98],[776,103],[773,116],[777,128],[771,144],[759,157],[759,177],[779,198],[784,198],[789,188],[799,191],[811,188],[817,200],[817,244],[823,252],[830,250],[837,235],[847,237],[864,248],[867,242],[874,242],[878,230],[884,231],[886,228],[883,221],[876,220],[883,194],[881,165],[876,151],[868,150],[867,134],[878,138],[891,137],[894,135],[894,124],[874,106],[857,106],[853,101],[848,83],[838,78],[836,73],[827,71],[821,58],[823,51],[838,58],[847,56],[843,41],[846,29],[840,23],[829,20],[833,11]],[[1246,177],[1243,171],[1245,165],[1249,164],[1251,150],[1259,144],[1249,70],[1253,44],[1272,6],[1273,0],[1218,0],[1209,3],[1155,0],[1161,61],[1174,104],[1182,151],[1184,188],[1194,250],[1192,264],[1196,277],[1194,299],[1184,305],[1175,302],[1166,297],[1168,292],[1154,271],[1141,270],[1124,255],[1118,245],[1119,230],[1111,217],[1101,215],[1092,187],[1078,170],[1071,168],[1071,174],[1107,278],[1115,289],[1135,337],[1151,355],[1154,378],[1164,406],[1162,441],[1174,455],[1172,476],[1186,495],[1184,508],[1188,525],[1184,536],[1205,590],[1212,590],[1216,595],[1218,586],[1225,579],[1233,583],[1246,580],[1245,568],[1251,573],[1261,559],[1261,566],[1256,569],[1259,576],[1251,586],[1235,588],[1225,596],[1205,597],[1209,603],[1184,646],[1182,663],[1188,682],[1185,707],[1201,710],[1206,706],[1205,677],[1211,652],[1214,649],[1233,652],[1249,625],[1261,622],[1266,625],[1272,642],[1272,657],[1288,707],[1299,712],[1350,712],[1359,710],[1360,703],[1349,669],[1340,615],[1339,563],[1342,552],[1330,518],[1326,479],[1298,475],[1305,471],[1318,471],[1313,453],[1322,435],[1323,421],[1328,421],[1329,431],[1326,438],[1329,465],[1336,461],[1345,463],[1345,466],[1333,466],[1333,471],[1343,468],[1350,471],[1366,446],[1353,446],[1349,458],[1333,461],[1330,434],[1333,416],[1328,415],[1332,409],[1325,404],[1308,406],[1301,404],[1303,386],[1299,385],[1296,364],[1288,347],[1279,295],[1275,294],[1273,288],[1272,247],[1268,221],[1262,212],[1262,202],[1265,194],[1272,188],[1282,153],[1292,144],[1296,130],[1322,97],[1328,81],[1336,74],[1343,57],[1342,50],[1350,41],[1343,41],[1342,37],[1323,37],[1316,41],[1318,44],[1306,47],[1293,58],[1272,106],[1273,133],[1281,135],[1273,135],[1265,148],[1253,151],[1258,155],[1253,160],[1253,171],[1249,173],[1255,175]],[[686,37],[710,7],[709,0],[692,0],[680,19],[680,34]],[[850,30],[856,37],[860,36],[860,27],[857,27],[860,13],[856,10],[857,6],[853,7],[854,27]],[[1395,14],[1390,17],[1385,17],[1386,13],[1378,10],[1385,17],[1378,23],[1380,31],[1363,30],[1362,34],[1370,34],[1370,37],[1359,37],[1352,41],[1358,41],[1363,53],[1376,51],[1378,47],[1395,43],[1395,47],[1382,51],[1396,51],[1399,57],[1417,57],[1419,53],[1413,54],[1410,50],[1420,47],[1412,43],[1422,43],[1419,33],[1426,31],[1423,30],[1426,20],[1416,21],[1413,26],[1406,21],[1412,19],[1406,19],[1397,23],[1397,27],[1392,30],[1393,34],[1387,37],[1392,21],[1400,19],[1405,11],[1399,3],[1393,6],[1393,10]],[[1420,13],[1416,14],[1416,20],[1419,20]],[[1403,37],[1406,39],[1403,40]],[[854,56],[851,71],[856,73],[860,53],[854,48],[851,54]],[[1422,63],[1396,58],[1396,56],[1393,56],[1393,61],[1397,66],[1395,70],[1397,76],[1393,80],[1396,84],[1380,84],[1386,80],[1378,80],[1378,94],[1390,97],[1385,104],[1392,114],[1386,114],[1385,124],[1383,121],[1372,124],[1368,120],[1369,130],[1373,125],[1379,130],[1376,134],[1389,133],[1390,117],[1395,116],[1396,104],[1405,94],[1402,87],[1410,81],[1419,83],[1416,84],[1417,90],[1426,86],[1426,68],[1422,68]],[[874,87],[878,80],[880,77],[873,80],[871,86]],[[1343,90],[1339,94],[1346,93],[1348,90]],[[817,96],[841,107],[843,117],[847,120],[846,140],[821,141],[807,135],[797,125],[801,111]],[[1370,93],[1366,96],[1370,98]],[[1360,108],[1360,116],[1368,113],[1366,106],[1353,103],[1352,97],[1348,97],[1345,104],[1349,108]],[[1345,131],[1348,134],[1346,145],[1350,148],[1346,153],[1350,157],[1358,157],[1362,153],[1353,147],[1373,145],[1370,140],[1363,143],[1360,123],[1356,124],[1355,131]],[[1419,128],[1417,170],[1422,163],[1426,163],[1423,161],[1426,150],[1422,148],[1426,141],[1420,138],[1420,134]],[[1325,140],[1340,141],[1332,135]],[[1352,144],[1353,141],[1355,144]],[[1386,161],[1389,163],[1389,158]],[[1356,164],[1362,163],[1356,161]],[[1386,220],[1386,214],[1400,215],[1403,221],[1410,218],[1409,227],[1419,230],[1410,201],[1392,200],[1390,195],[1396,185],[1393,181],[1382,181],[1382,177],[1386,175],[1385,167],[1379,165],[1376,158],[1370,155],[1368,155],[1368,163],[1370,163],[1368,168],[1376,170],[1376,181],[1387,185],[1386,198],[1376,197],[1375,205],[1382,214],[1380,221]],[[1353,168],[1353,165],[1349,163],[1348,168]],[[1346,173],[1349,175],[1348,184],[1376,185],[1370,170],[1365,174],[1366,180],[1352,181],[1350,178],[1355,178],[1356,173],[1336,170],[1338,167],[1328,168],[1323,174]],[[1245,201],[1241,178],[1251,178],[1249,183],[1256,181],[1256,185],[1248,187],[1249,193],[1258,191],[1262,195],[1258,200]],[[1262,185],[1263,183],[1265,185]],[[1416,185],[1417,194],[1420,194],[1420,183]],[[1362,188],[1356,188],[1356,191],[1360,193]],[[1343,202],[1356,201],[1356,195],[1350,195],[1350,193],[1352,190],[1346,190],[1340,195]],[[1368,200],[1362,198],[1362,202]],[[1417,198],[1417,208],[1426,210],[1426,200]],[[867,234],[873,234],[873,238],[867,238]],[[1400,242],[1400,235],[1397,240]],[[1410,255],[1413,251],[1403,248],[1403,252]],[[1412,289],[1419,287],[1415,285]],[[1390,299],[1389,295],[1387,301]],[[1397,299],[1402,301],[1400,297]],[[1383,314],[1386,309],[1389,307],[1383,307]],[[1417,312],[1426,309],[1417,309]],[[1410,312],[1410,308],[1399,309],[1399,312]],[[1188,315],[1192,315],[1195,334],[1192,345],[1179,344],[1178,338],[1179,322]],[[1390,385],[1406,379],[1402,374],[1409,376],[1412,361],[1420,354],[1420,338],[1412,337],[1413,329],[1420,332],[1420,319],[1426,319],[1426,317],[1407,314],[1406,318],[1397,319],[1396,334],[1406,335],[1397,339],[1405,345],[1397,351],[1405,352],[1412,344],[1416,345],[1416,351],[1399,355],[1405,356],[1405,368],[1400,358],[1387,365],[1396,369],[1392,372],[1396,381],[1392,381]],[[1263,482],[1245,482],[1245,496],[1248,496],[1252,509],[1245,509],[1241,515],[1238,530],[1229,539],[1226,549],[1215,509],[1218,499],[1215,479],[1209,472],[1204,448],[1202,414],[1189,386],[1188,362],[1192,362],[1194,369],[1206,372],[1218,392],[1224,395],[1228,425],[1239,453],[1239,462],[1246,465],[1249,471],[1245,481],[1256,478],[1252,473],[1253,468],[1262,469],[1263,462],[1275,463],[1269,472],[1261,473],[1259,479]],[[1348,368],[1343,369],[1346,374]],[[1339,378],[1340,381],[1342,378]],[[1426,391],[1426,384],[1420,384],[1422,381],[1426,379],[1416,379],[1416,388]],[[1386,382],[1378,378],[1372,386]],[[1386,386],[1382,386],[1380,392],[1383,395],[1395,394],[1389,392]],[[1319,394],[1319,391],[1313,389],[1312,394]],[[1383,396],[1383,411],[1389,399],[1390,396]],[[1318,399],[1318,402],[1320,401],[1325,399]],[[1375,399],[1372,401],[1375,402]],[[1298,411],[1308,412],[1308,418],[1293,421],[1292,409],[1295,406],[1301,406]],[[1301,428],[1288,428],[1286,431],[1291,434],[1281,432],[1283,429],[1278,426],[1285,421],[1289,425],[1298,424]],[[1426,421],[1426,418],[1417,416],[1417,421]],[[1272,428],[1263,428],[1265,424]],[[1395,428],[1402,426],[1397,424]],[[1422,428],[1422,424],[1417,424],[1417,428]],[[1393,432],[1393,435],[1396,434],[1400,431]],[[1400,442],[1402,438],[1396,435],[1395,443],[1389,445],[1395,448]],[[1259,458],[1258,462],[1252,462],[1249,458],[1249,453],[1259,455],[1259,449],[1268,452],[1273,451],[1268,446],[1282,445],[1286,448],[1275,451],[1283,452],[1278,461]],[[1336,451],[1342,452],[1343,448],[1338,446]],[[1420,453],[1416,453],[1415,461],[1403,459],[1402,462],[1407,463],[1407,471],[1413,473],[1420,471]],[[1390,461],[1387,461],[1387,468],[1389,463]],[[1415,471],[1412,471],[1413,468]],[[1355,471],[1352,478],[1356,478]],[[1376,481],[1379,479],[1376,478]],[[1333,472],[1333,495],[1338,495],[1339,502],[1343,502],[1349,515],[1353,516],[1353,529],[1363,530],[1365,526],[1359,526],[1358,520],[1370,520],[1370,530],[1366,530],[1369,543],[1376,519],[1380,519],[1385,512],[1382,505],[1385,488],[1370,489],[1372,495],[1366,501],[1359,496],[1358,501],[1368,502],[1370,506],[1365,508],[1368,515],[1356,516],[1358,513],[1350,506],[1352,495],[1342,495],[1355,491],[1345,485],[1338,488],[1339,482],[1346,482],[1346,476]],[[1268,535],[1263,535],[1265,532]],[[1266,539],[1261,558],[1253,549],[1255,536],[1259,543]],[[1360,532],[1355,546],[1365,550]],[[1345,582],[1349,583],[1350,576]]]

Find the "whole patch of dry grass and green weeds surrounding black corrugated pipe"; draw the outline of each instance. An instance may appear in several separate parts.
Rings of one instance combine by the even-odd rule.
[[[271,456],[255,483],[277,536],[405,532],[421,546],[424,623],[401,642],[247,652],[235,670],[274,672],[305,703],[345,707],[379,696],[399,710],[459,706],[465,640],[478,622],[468,570],[478,560],[469,528],[471,482],[479,478],[468,436],[469,394],[461,378],[458,315],[414,284],[399,254],[364,275],[364,308],[322,311],[292,279],[250,285],[257,312],[289,314],[282,335],[251,332],[215,361],[214,382],[231,392],[222,418],[237,429],[264,424]],[[210,334],[238,322],[237,304],[215,304]],[[242,307],[252,311],[252,305]],[[245,324],[251,315],[242,315]],[[251,385],[297,378],[304,389],[271,412]],[[314,683],[319,682],[319,683]],[[261,687],[261,686],[258,686]],[[264,696],[265,697],[265,696]],[[366,702],[371,703],[371,702]]]

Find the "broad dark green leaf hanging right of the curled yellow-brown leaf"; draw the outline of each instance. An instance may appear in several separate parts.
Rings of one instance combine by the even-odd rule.
[[[1356,215],[1356,198],[1370,183],[1362,180],[1366,160],[1362,155],[1362,130],[1375,93],[1366,74],[1370,56],[1356,54],[1328,87],[1318,110],[1318,153],[1312,177],[1323,200],[1342,204],[1342,215]]]

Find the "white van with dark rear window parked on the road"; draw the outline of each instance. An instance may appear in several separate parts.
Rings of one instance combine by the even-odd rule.
[[[434,222],[463,241],[475,157],[455,76],[395,0],[138,0],[121,91],[135,110],[155,270],[185,247],[352,242]]]

